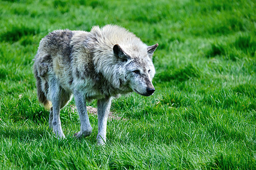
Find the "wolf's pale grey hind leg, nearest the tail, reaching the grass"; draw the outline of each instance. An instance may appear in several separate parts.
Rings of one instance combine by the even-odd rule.
[[[57,84],[57,80],[52,78],[50,80],[50,90],[51,90],[51,101],[52,101],[52,128],[55,132],[57,138],[65,138],[63,130],[61,128],[60,122],[60,105],[61,105],[61,87]],[[51,111],[50,111],[51,116]]]

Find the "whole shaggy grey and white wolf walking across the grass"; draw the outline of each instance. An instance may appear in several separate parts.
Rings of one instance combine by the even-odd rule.
[[[86,101],[98,99],[99,144],[106,141],[106,123],[112,96],[135,91],[149,96],[155,91],[152,54],[133,33],[116,25],[93,27],[90,32],[57,30],[40,41],[34,74],[38,99],[49,108],[49,126],[64,138],[60,109],[75,97],[81,120],[76,137],[92,133]]]

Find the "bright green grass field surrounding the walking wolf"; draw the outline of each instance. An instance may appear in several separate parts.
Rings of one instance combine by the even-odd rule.
[[[255,19],[249,0],[0,1],[0,169],[256,169]],[[36,98],[39,41],[110,23],[159,43],[155,94],[113,100],[105,147],[92,114],[72,138],[72,100],[58,141]]]

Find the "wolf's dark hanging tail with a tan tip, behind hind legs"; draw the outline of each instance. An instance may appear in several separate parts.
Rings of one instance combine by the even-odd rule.
[[[35,63],[34,63],[33,69],[34,69],[34,75],[36,78],[36,87],[38,90],[38,101],[44,105],[44,108],[49,110],[52,106],[52,103],[51,103],[51,101],[47,100],[46,95],[44,94],[44,92],[42,90],[42,80],[39,77],[38,69],[37,69]]]

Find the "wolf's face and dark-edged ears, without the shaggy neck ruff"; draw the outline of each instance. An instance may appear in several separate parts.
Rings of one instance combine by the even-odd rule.
[[[152,63],[152,55],[158,44],[152,46],[133,46],[126,49],[115,44],[113,52],[119,61],[123,63],[121,68],[121,81],[128,84],[131,90],[143,96],[154,94],[155,88],[152,79],[155,75],[155,67]]]

